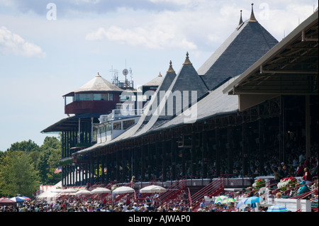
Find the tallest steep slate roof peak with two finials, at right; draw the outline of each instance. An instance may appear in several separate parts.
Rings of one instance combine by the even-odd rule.
[[[216,89],[230,77],[245,72],[277,43],[278,41],[254,18],[252,11],[252,18],[240,23],[197,72],[208,89]]]

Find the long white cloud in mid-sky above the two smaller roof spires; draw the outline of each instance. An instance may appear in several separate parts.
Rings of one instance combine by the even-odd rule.
[[[107,30],[99,28],[98,30],[86,35],[86,40],[104,39],[124,45],[145,47],[149,49],[196,49],[196,45],[186,40],[185,37],[156,28],[137,27],[123,29],[118,26],[111,26]]]

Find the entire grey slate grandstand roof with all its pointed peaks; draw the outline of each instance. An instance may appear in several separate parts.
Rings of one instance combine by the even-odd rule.
[[[138,123],[122,135],[109,142],[84,149],[78,154],[123,140],[134,139],[150,132],[174,128],[185,123],[194,123],[215,115],[235,113],[238,111],[238,98],[224,94],[223,89],[277,43],[278,41],[257,22],[252,11],[250,20],[242,22],[241,19],[235,31],[197,72],[187,53],[179,73],[175,74],[174,69],[171,69],[171,64],[170,72],[167,72],[162,84],[155,92],[155,95],[158,95],[160,91],[171,91],[172,93],[174,91],[181,91],[181,93],[182,91],[197,91],[198,100],[195,106],[187,107],[183,113],[170,117],[162,115],[161,112],[158,112],[157,115],[145,115],[147,114],[145,112]],[[161,100],[159,96],[156,98],[157,106],[160,101],[167,104],[165,99]],[[149,107],[154,101],[155,98],[152,98],[146,111],[150,110]]]

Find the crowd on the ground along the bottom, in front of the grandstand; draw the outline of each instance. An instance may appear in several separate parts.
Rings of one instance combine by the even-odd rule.
[[[298,182],[295,189],[291,190],[295,192],[292,196],[301,195],[301,193],[306,193],[315,188],[318,190],[318,179],[308,184],[303,180],[300,184]],[[282,198],[284,194],[280,191],[275,194],[271,190],[268,191],[266,194],[263,193],[261,195],[259,191],[254,191],[252,187],[248,187],[243,188],[242,191],[222,193],[220,195],[227,196],[228,198],[259,196],[263,199],[262,203],[267,203],[269,198]],[[139,202],[129,199],[129,196],[123,196],[121,200],[116,202],[111,202],[106,197],[84,198],[69,196],[67,198],[57,198],[55,201],[47,201],[45,199],[25,200],[23,203],[18,203],[17,205],[0,205],[0,212],[265,212],[268,208],[267,206],[258,205],[257,208],[246,206],[239,209],[235,202],[216,203],[213,201],[207,203],[204,198],[197,203],[190,203],[185,191],[181,191],[177,198],[165,203],[162,203],[157,193],[154,195],[150,194]],[[307,199],[318,202],[318,192],[310,194]]]

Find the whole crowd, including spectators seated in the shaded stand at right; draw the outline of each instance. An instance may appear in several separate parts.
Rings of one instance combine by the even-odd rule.
[[[275,183],[288,176],[302,177],[300,186],[297,186],[298,190],[291,189],[289,196],[298,196],[301,193],[318,188],[318,144],[312,145],[310,158],[305,157],[302,147],[295,147],[290,144],[287,145],[287,148],[289,148],[289,156],[286,157],[286,163],[281,162],[279,164],[279,160],[274,155],[270,155],[268,161],[264,162],[264,171],[260,172],[257,171],[259,162],[253,161],[254,158],[252,158],[252,161],[249,162],[250,172],[257,174],[257,176],[274,176]],[[234,163],[234,169],[237,169],[236,165],[237,162]],[[316,181],[316,183],[313,183],[313,181]],[[276,196],[276,198],[281,198],[281,195],[281,192],[276,193],[276,195],[269,193],[269,196]],[[284,195],[287,194],[284,193]],[[249,187],[241,193],[228,194],[228,196],[248,197],[258,196],[258,193],[252,191],[252,187]],[[313,194],[312,198],[317,198],[318,201],[318,193]],[[196,205],[198,203],[190,203],[186,193],[182,192],[179,198],[167,203],[162,203],[156,195],[149,196],[138,203],[135,203],[134,200],[126,200],[125,197],[113,203],[105,198],[90,199],[70,196],[69,198],[57,199],[55,202],[35,199],[25,200],[17,205],[0,205],[0,212],[192,212]],[[202,201],[200,208],[196,208],[196,211],[234,210],[234,205],[235,203],[204,205]],[[264,209],[259,208],[258,211],[264,211]]]

